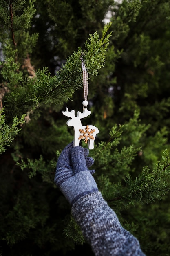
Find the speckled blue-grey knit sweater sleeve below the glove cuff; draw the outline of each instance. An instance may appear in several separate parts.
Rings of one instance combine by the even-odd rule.
[[[121,226],[100,192],[79,198],[72,214],[95,256],[145,256],[139,241]]]

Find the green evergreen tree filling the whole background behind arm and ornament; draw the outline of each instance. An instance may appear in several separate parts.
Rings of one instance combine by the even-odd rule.
[[[82,52],[99,190],[146,255],[170,254],[169,17],[167,0],[0,0],[2,256],[93,255],[53,182]]]

